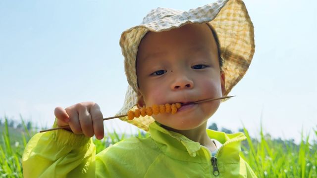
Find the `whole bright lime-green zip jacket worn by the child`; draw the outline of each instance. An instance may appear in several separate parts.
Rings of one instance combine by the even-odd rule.
[[[22,157],[25,178],[255,178],[240,157],[243,133],[207,130],[210,151],[154,122],[151,136],[122,140],[96,155],[91,138],[57,130],[34,135]],[[216,175],[216,176],[215,176]]]

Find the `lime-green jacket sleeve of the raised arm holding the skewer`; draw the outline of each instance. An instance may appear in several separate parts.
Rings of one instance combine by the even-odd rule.
[[[95,177],[96,147],[92,138],[65,130],[35,134],[27,143],[24,178]]]

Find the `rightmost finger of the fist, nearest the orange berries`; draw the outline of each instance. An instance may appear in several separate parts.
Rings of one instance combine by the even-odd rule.
[[[100,111],[100,107],[95,103],[90,108],[90,114],[93,120],[94,132],[97,139],[103,139],[104,137],[104,117],[103,113]]]

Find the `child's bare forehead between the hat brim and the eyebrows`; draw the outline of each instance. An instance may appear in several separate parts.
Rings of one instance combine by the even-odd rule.
[[[210,52],[217,47],[207,24],[187,24],[163,32],[148,32],[138,47],[137,58],[168,55],[172,52]]]

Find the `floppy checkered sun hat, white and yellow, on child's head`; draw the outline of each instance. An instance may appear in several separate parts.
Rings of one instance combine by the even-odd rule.
[[[136,56],[142,38],[149,31],[167,31],[188,23],[207,23],[218,36],[223,59],[222,70],[226,76],[226,92],[223,96],[226,96],[242,79],[255,52],[254,27],[242,0],[217,0],[188,11],[159,7],[151,10],[140,25],[129,28],[121,34],[119,44],[124,56],[124,68],[129,86],[124,104],[117,116],[137,109]],[[140,116],[133,120],[128,120],[127,117],[120,119],[145,131],[148,131],[149,125],[154,122],[151,116]]]

